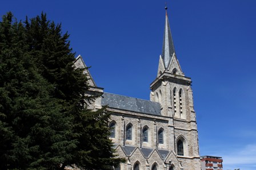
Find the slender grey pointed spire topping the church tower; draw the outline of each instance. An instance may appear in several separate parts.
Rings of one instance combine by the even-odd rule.
[[[166,15],[165,15],[165,32],[163,34],[163,48],[162,48],[162,59],[165,64],[165,68],[169,67],[171,57],[174,54],[174,45],[173,38],[171,37],[171,29],[167,16],[167,6],[165,6]]]

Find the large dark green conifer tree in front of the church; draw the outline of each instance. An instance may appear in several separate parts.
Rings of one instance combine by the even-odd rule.
[[[0,169],[110,169],[115,158],[106,108],[74,68],[69,35],[45,14],[0,22]]]

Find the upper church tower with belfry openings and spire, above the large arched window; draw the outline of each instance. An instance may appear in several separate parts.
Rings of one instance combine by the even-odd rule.
[[[161,114],[190,120],[189,112],[193,110],[191,78],[182,72],[175,54],[170,24],[165,15],[162,55],[159,57],[157,78],[151,83],[150,100],[161,103]]]

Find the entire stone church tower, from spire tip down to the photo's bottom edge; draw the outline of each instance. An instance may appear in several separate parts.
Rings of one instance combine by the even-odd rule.
[[[150,101],[161,104],[161,115],[168,121],[170,149],[185,167],[201,169],[191,78],[182,72],[177,59],[165,9],[162,54],[157,78],[150,84]]]

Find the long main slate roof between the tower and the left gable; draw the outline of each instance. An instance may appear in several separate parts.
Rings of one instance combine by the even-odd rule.
[[[139,113],[161,115],[161,106],[157,102],[147,101],[145,99],[121,96],[118,94],[103,93],[101,99],[102,105],[122,110],[136,111]]]

